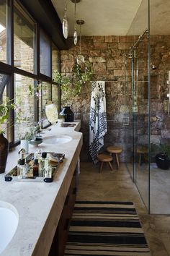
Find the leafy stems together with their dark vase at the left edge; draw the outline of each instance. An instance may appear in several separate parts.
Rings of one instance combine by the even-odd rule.
[[[14,108],[12,100],[6,100],[6,103],[0,104],[0,174],[4,173],[6,160],[9,152],[9,142],[4,137],[6,124],[8,122],[9,111]]]

